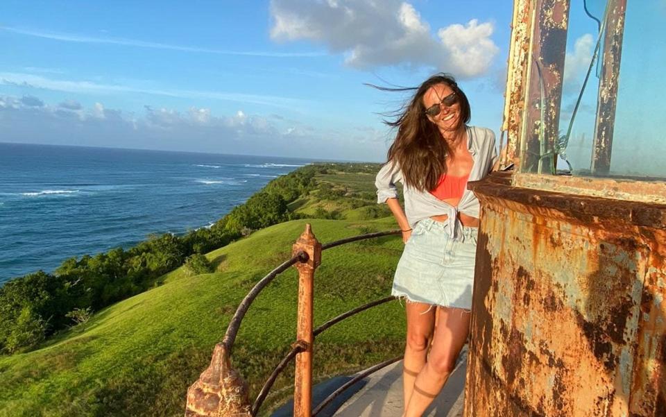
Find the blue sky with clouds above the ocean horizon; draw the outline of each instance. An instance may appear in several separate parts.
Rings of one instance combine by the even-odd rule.
[[[663,19],[665,1],[647,3]],[[472,124],[499,135],[511,4],[4,0],[0,142],[381,161],[392,133],[377,113],[405,97],[363,83],[413,86],[436,71],[459,78]],[[563,108],[596,39],[576,5],[571,18]],[[582,165],[596,88],[574,128],[588,138],[571,147]]]

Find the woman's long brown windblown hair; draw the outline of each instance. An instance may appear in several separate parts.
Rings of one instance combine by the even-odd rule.
[[[398,163],[402,171],[405,185],[420,191],[432,190],[446,173],[446,158],[451,155],[451,148],[443,139],[437,126],[425,115],[423,96],[437,84],[451,87],[458,98],[460,117],[456,130],[463,129],[470,121],[470,103],[465,93],[460,90],[456,80],[449,74],[436,74],[425,80],[419,87],[386,88],[385,91],[416,90],[405,105],[388,116],[393,120],[384,120],[388,126],[398,128],[398,134],[391,147],[388,148],[388,163]],[[386,115],[386,114],[385,114]]]

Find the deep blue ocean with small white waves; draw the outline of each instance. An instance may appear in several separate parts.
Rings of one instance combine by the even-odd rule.
[[[0,143],[0,284],[151,234],[208,227],[309,162]]]

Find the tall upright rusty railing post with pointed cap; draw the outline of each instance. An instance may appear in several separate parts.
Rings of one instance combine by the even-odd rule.
[[[296,377],[293,390],[293,416],[310,417],[312,409],[312,304],[314,298],[314,270],[321,264],[321,244],[312,234],[309,224],[293,244],[293,255],[304,253],[298,269],[298,327],[296,343],[305,350],[296,355]]]

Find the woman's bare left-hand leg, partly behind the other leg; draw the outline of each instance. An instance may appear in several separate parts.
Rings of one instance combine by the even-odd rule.
[[[407,408],[409,398],[414,389],[414,381],[423,366],[428,353],[435,325],[436,307],[425,303],[406,303],[407,312],[407,343],[404,348],[402,370],[402,395],[404,407]]]

